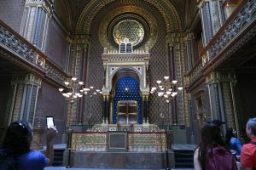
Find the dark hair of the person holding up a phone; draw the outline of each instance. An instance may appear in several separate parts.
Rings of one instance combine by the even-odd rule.
[[[20,156],[30,150],[32,129],[26,121],[12,122],[3,139],[3,149],[12,156]]]

